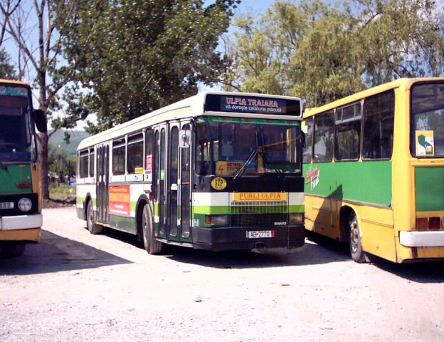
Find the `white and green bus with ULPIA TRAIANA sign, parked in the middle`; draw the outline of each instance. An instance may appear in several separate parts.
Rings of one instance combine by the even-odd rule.
[[[77,214],[93,234],[212,251],[304,244],[299,98],[205,92],[80,142]]]

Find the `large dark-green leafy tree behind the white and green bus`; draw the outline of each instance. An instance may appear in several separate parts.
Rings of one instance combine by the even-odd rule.
[[[240,1],[64,0],[57,27],[75,66],[65,92],[69,121],[97,115],[97,133],[197,92],[217,80],[216,51]]]

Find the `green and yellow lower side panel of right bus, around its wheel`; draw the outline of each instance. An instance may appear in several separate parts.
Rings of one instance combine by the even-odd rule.
[[[393,244],[391,209],[391,162],[332,162],[305,165],[305,227],[332,239],[347,241],[342,236],[339,215],[344,205],[353,208],[366,234],[368,252],[379,252],[382,245]],[[346,204],[348,203],[348,204]],[[369,204],[369,205],[366,205]],[[387,207],[379,208],[379,207]],[[364,208],[364,209],[363,209]],[[374,214],[381,217],[373,216]],[[395,257],[394,247],[388,255]]]

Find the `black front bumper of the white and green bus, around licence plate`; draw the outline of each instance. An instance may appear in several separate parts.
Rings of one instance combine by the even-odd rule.
[[[274,237],[248,238],[247,232],[274,231]],[[255,248],[295,248],[304,245],[304,226],[193,227],[194,249],[226,251]]]

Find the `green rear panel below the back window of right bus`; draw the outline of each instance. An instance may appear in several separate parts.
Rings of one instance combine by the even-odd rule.
[[[444,210],[444,167],[415,168],[416,211]]]

